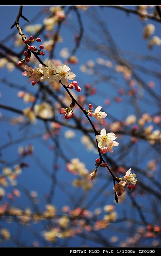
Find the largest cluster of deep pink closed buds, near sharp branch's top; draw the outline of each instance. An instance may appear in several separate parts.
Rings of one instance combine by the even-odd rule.
[[[36,39],[34,39],[33,36],[30,36],[29,39],[25,39],[25,40],[24,40],[24,43],[25,43],[26,45],[28,45],[29,43],[34,42],[34,41],[36,41],[36,42],[41,42],[42,40],[41,40],[39,37],[37,37]],[[37,55],[42,55],[42,56],[44,56],[45,53],[42,51],[42,50],[44,49],[44,46],[43,46],[43,45],[40,45],[39,48],[40,48],[40,49],[37,49],[37,48],[34,47],[34,46],[28,46],[28,51],[24,51],[24,53],[23,53],[23,54],[24,54],[24,59],[23,59],[23,60],[20,60],[17,65],[18,65],[18,66],[22,66],[22,65],[24,64],[24,62],[29,62],[29,61],[30,61],[30,58],[31,58],[31,52],[35,52],[35,51],[36,51],[36,54],[37,54]]]

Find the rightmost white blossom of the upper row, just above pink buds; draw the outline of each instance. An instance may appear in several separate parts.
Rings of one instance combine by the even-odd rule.
[[[58,74],[55,75],[55,80],[60,80],[62,84],[68,86],[68,79],[74,80],[75,78],[75,74],[69,70],[70,68],[66,65],[64,65],[63,67],[60,65],[56,66],[56,71]]]

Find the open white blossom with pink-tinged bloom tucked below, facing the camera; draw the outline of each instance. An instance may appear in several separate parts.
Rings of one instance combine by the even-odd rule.
[[[96,135],[96,139],[98,141],[98,147],[100,149],[105,148],[106,151],[109,150],[109,152],[111,153],[113,153],[113,147],[118,146],[118,142],[114,141],[116,138],[117,137],[113,132],[107,133],[104,128],[101,130],[100,135]]]

